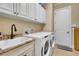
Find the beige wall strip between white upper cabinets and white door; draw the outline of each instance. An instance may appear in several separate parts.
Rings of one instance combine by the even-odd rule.
[[[53,19],[53,4],[46,4],[47,11],[47,24],[44,27],[44,31],[54,31],[54,19]]]

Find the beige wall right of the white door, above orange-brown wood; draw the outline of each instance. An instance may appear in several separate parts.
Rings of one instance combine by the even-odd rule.
[[[72,24],[76,24],[79,27],[79,3],[72,5]]]

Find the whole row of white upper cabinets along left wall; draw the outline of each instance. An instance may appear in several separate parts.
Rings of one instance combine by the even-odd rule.
[[[38,3],[0,3],[0,12],[4,12],[25,20],[45,23],[46,11]]]

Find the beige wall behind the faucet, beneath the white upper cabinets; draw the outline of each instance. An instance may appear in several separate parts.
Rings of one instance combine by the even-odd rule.
[[[15,24],[17,27],[16,33],[23,33],[27,28],[32,28],[34,31],[41,31],[43,29],[43,25],[41,24],[0,17],[0,32],[10,34],[12,24]]]

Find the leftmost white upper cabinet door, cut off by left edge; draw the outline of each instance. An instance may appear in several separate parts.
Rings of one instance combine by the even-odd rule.
[[[0,9],[7,13],[13,13],[13,3],[0,3]]]

